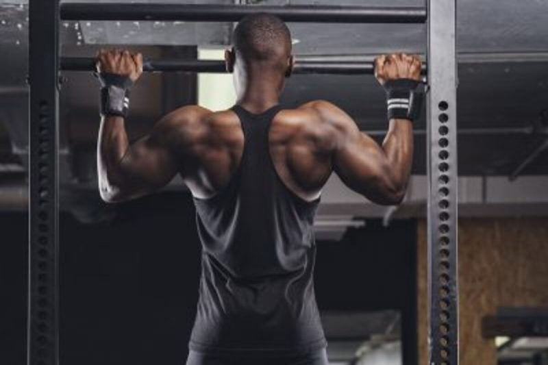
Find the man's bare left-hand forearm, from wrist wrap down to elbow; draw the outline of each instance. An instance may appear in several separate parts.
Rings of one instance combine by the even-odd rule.
[[[124,184],[121,168],[123,157],[129,148],[124,118],[105,116],[101,118],[97,140],[97,176],[101,197],[112,201]]]

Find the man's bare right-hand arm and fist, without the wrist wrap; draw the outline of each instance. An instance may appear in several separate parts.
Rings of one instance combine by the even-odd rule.
[[[418,58],[395,55],[377,58],[376,77],[381,84],[389,79],[419,79]],[[319,102],[316,111],[332,127],[332,166],[352,190],[374,203],[399,204],[406,194],[413,157],[413,126],[407,119],[392,119],[381,146],[362,133],[343,110]]]

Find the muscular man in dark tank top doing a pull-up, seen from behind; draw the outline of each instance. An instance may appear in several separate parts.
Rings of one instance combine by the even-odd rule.
[[[190,188],[203,254],[187,364],[327,364],[312,282],[321,189],[335,172],[376,203],[403,199],[421,62],[403,54],[375,61],[390,118],[380,147],[327,101],[295,110],[279,105],[294,63],[290,32],[279,18],[248,16],[233,44],[225,58],[234,108],[179,108],[133,144],[124,118],[142,56],[99,53],[101,197],[140,197],[176,174]]]

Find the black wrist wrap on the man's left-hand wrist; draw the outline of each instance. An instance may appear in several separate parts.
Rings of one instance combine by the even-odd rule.
[[[99,107],[101,116],[127,117],[129,112],[129,89],[133,86],[129,76],[113,73],[96,73],[101,82]]]

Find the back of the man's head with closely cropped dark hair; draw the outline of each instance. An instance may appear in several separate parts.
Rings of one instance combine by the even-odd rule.
[[[259,13],[243,18],[234,29],[236,53],[247,63],[286,62],[291,55],[291,34],[277,16]]]

